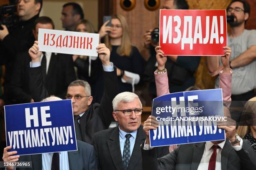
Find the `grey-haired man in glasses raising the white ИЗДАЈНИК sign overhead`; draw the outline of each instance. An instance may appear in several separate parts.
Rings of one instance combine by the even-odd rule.
[[[35,41],[35,44],[29,50],[31,56],[29,84],[35,101],[40,101],[49,96],[42,82],[40,68],[41,52],[38,50],[38,42]],[[109,60],[110,50],[105,44],[100,44],[97,50],[104,70],[104,94],[100,104],[91,104],[93,97],[91,96],[91,88],[88,82],[76,80],[71,82],[67,89],[67,99],[72,99],[77,139],[89,144],[92,143],[92,136],[96,132],[109,127],[113,119],[111,115],[113,111],[112,100],[118,92],[116,69]],[[33,67],[33,65],[37,64],[39,64],[39,67]]]

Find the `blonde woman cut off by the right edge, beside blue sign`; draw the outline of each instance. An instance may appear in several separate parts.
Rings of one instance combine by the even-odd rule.
[[[241,138],[247,139],[251,147],[256,152],[256,97],[246,102],[246,110],[241,115],[241,125],[238,126],[237,133]]]

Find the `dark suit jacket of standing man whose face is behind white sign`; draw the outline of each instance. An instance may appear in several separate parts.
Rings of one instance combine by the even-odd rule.
[[[8,94],[13,103],[27,103],[32,98],[28,76],[30,61],[31,57],[28,52],[17,56],[10,85],[12,90]],[[44,82],[48,94],[64,98],[69,83],[75,78],[72,56],[51,53],[48,73]]]

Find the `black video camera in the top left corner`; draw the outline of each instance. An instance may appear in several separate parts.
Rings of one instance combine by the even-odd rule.
[[[5,25],[8,29],[15,28],[18,25],[19,18],[15,13],[17,12],[16,4],[18,0],[9,0],[10,5],[0,6],[0,29],[1,25]]]

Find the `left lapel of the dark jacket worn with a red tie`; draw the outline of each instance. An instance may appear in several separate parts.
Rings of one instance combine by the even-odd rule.
[[[197,170],[205,150],[205,143],[196,143],[193,146],[191,170]]]

